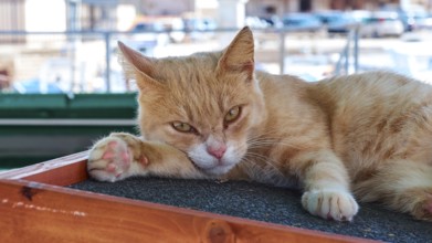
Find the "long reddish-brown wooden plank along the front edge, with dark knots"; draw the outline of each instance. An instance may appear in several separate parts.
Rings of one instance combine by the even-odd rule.
[[[0,180],[0,242],[368,242],[23,180]]]

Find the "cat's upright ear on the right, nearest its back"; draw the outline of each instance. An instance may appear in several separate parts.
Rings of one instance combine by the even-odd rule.
[[[244,73],[252,78],[254,73],[254,43],[253,34],[249,27],[243,28],[223,51],[219,60],[217,73],[226,72]]]

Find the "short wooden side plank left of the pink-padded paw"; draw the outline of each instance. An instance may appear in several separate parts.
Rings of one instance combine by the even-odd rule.
[[[0,179],[25,179],[30,181],[69,186],[86,180],[86,161],[88,151],[40,162],[6,172],[0,172]]]

